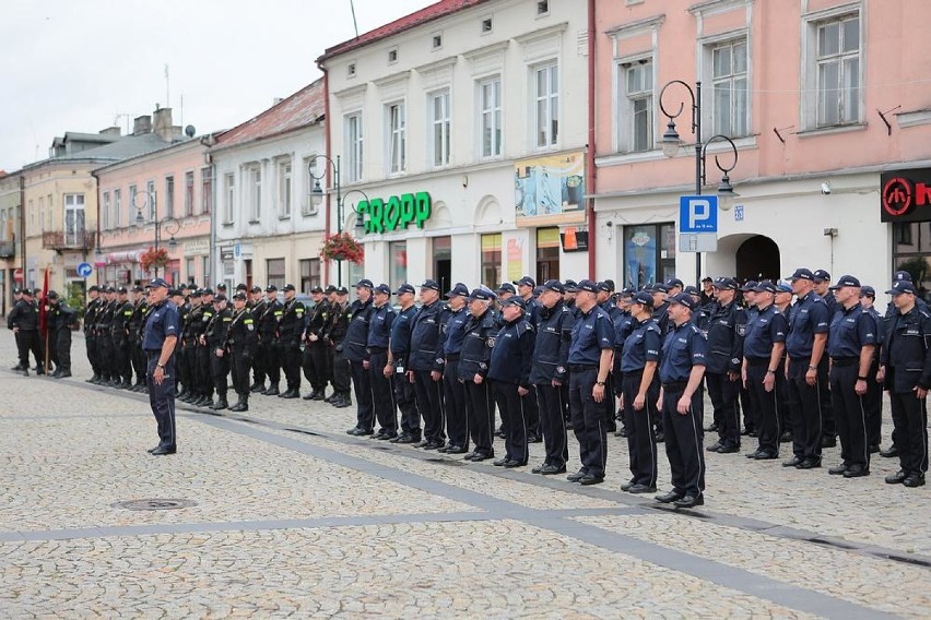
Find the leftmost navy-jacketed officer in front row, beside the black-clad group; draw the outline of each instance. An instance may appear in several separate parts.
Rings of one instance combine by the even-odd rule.
[[[355,285],[356,299],[350,306],[349,326],[343,341],[343,351],[350,362],[352,386],[355,392],[356,424],[346,430],[356,437],[374,434],[375,402],[372,396],[372,380],[365,361],[368,359],[368,326],[372,323],[372,289],[375,285],[362,278]]]

